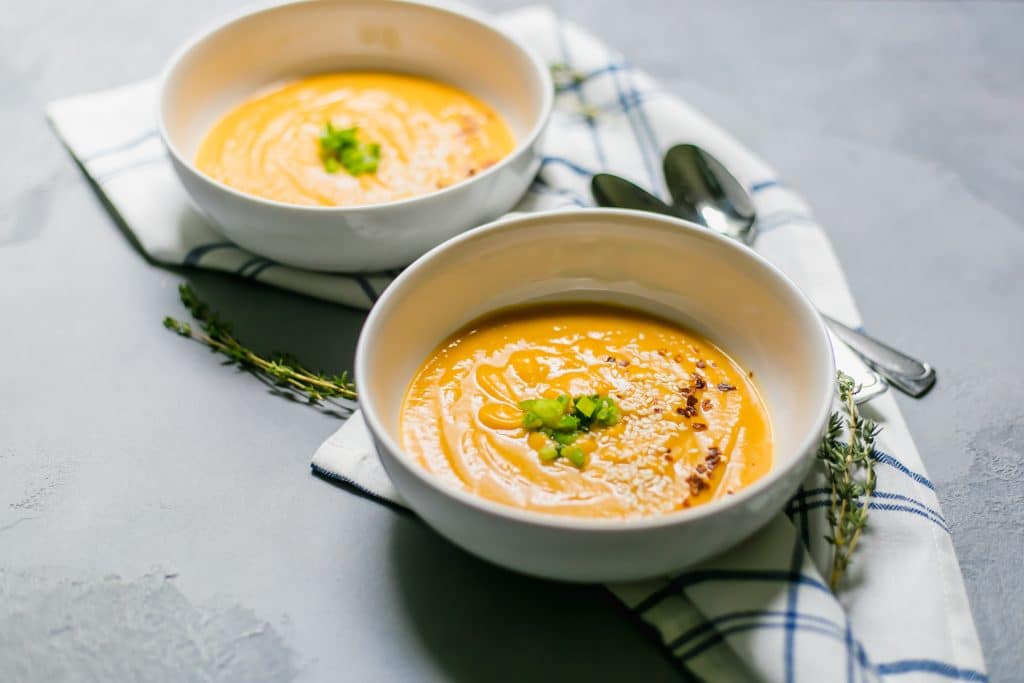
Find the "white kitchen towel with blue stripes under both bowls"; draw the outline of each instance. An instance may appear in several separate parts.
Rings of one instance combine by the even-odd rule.
[[[664,194],[662,152],[695,142],[754,195],[756,249],[826,313],[858,314],[828,240],[806,203],[770,167],[645,74],[547,8],[499,23],[553,66],[559,93],[544,163],[520,211],[588,206],[599,170]],[[367,307],[390,273],[296,270],[224,241],[190,207],[154,125],[156,85],[54,102],[57,133],[157,261],[236,272],[312,296]],[[870,523],[839,598],[822,579],[828,492],[812,475],[754,539],[682,573],[609,590],[649,624],[680,667],[709,681],[984,681],[984,661],[959,566],[909,433],[891,395],[870,410],[885,426],[876,454]],[[313,469],[400,504],[358,413],[317,451]]]

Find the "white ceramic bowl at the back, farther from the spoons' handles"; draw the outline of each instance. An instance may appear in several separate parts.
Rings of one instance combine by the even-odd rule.
[[[457,184],[360,207],[274,202],[196,169],[210,127],[254,92],[350,70],[410,73],[462,88],[497,109],[518,144]],[[537,173],[552,99],[548,68],[481,16],[402,0],[318,0],[250,11],[187,43],[164,75],[159,118],[175,172],[226,238],[289,265],[379,270],[507,212]]]

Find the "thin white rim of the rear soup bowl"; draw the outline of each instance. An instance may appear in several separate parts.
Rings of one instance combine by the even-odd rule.
[[[372,209],[380,208],[390,208],[390,207],[404,207],[410,205],[415,205],[418,202],[423,202],[428,199],[438,199],[444,195],[451,194],[457,189],[468,187],[471,184],[482,182],[485,178],[500,173],[502,169],[510,165],[513,160],[521,157],[526,151],[530,150],[536,143],[538,138],[542,135],[545,128],[548,126],[548,122],[551,119],[551,112],[554,109],[555,92],[554,92],[554,82],[551,77],[551,72],[547,65],[531,49],[526,47],[518,38],[513,36],[511,33],[505,29],[498,26],[495,20],[487,14],[475,10],[472,7],[467,7],[463,5],[455,5],[451,3],[432,3],[429,0],[384,0],[387,4],[392,5],[407,5],[410,7],[418,7],[422,9],[427,9],[431,11],[438,12],[440,14],[447,14],[455,17],[460,17],[468,19],[479,27],[497,34],[499,37],[505,39],[509,44],[514,46],[519,52],[526,57],[529,63],[532,66],[532,71],[535,76],[537,76],[541,81],[541,92],[542,101],[541,106],[537,111],[534,118],[534,125],[529,132],[520,140],[516,142],[513,150],[502,157],[498,163],[489,166],[483,171],[474,174],[470,178],[464,178],[458,182],[454,182],[446,187],[441,187],[440,189],[435,189],[433,191],[427,193],[425,195],[415,195],[413,197],[407,197],[400,200],[392,200],[390,202],[378,202],[375,204],[359,204],[353,206],[322,206],[322,205],[307,205],[307,204],[290,204],[288,202],[280,202],[278,200],[271,200],[265,197],[259,197],[258,195],[250,195],[249,193],[244,193],[240,189],[231,187],[230,185],[217,180],[209,176],[208,174],[201,171],[195,164],[184,157],[174,144],[171,139],[171,135],[167,130],[167,122],[164,116],[165,102],[167,100],[167,87],[170,81],[171,75],[181,63],[181,60],[190,53],[193,50],[198,48],[207,40],[213,38],[215,35],[227,29],[228,27],[234,25],[242,19],[249,18],[250,16],[255,16],[257,14],[263,14],[267,12],[278,11],[293,7],[296,5],[306,5],[313,4],[314,2],[322,2],[323,0],[271,0],[270,2],[264,2],[257,5],[250,5],[248,7],[242,8],[241,10],[234,12],[228,12],[222,15],[219,19],[215,19],[211,24],[207,25],[205,28],[199,30],[197,33],[193,34],[190,38],[185,40],[180,44],[177,49],[171,54],[167,63],[164,66],[159,78],[158,87],[158,97],[157,97],[157,130],[163,140],[164,147],[167,150],[168,154],[179,166],[188,169],[188,171],[205,182],[210,183],[222,193],[231,195],[240,200],[249,201],[254,204],[263,205],[266,207],[274,209],[287,209],[295,210],[301,212],[311,212],[311,213],[356,213],[360,211],[368,211]],[[335,2],[345,2],[345,1],[359,1],[359,0],[334,0]],[[380,0],[378,0],[380,1]],[[381,4],[384,4],[381,2]],[[473,93],[470,93],[473,94]],[[475,96],[475,95],[474,95]]]

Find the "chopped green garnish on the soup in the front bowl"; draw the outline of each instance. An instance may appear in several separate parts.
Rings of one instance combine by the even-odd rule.
[[[600,394],[572,397],[563,393],[557,398],[534,398],[519,403],[523,429],[541,432],[551,439],[538,455],[546,463],[564,457],[577,467],[587,462],[587,455],[575,440],[594,427],[610,427],[622,418],[618,405],[610,396]]]

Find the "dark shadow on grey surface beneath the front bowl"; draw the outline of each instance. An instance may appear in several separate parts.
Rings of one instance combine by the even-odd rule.
[[[686,680],[599,586],[507,571],[395,517],[392,568],[402,609],[453,681]]]

